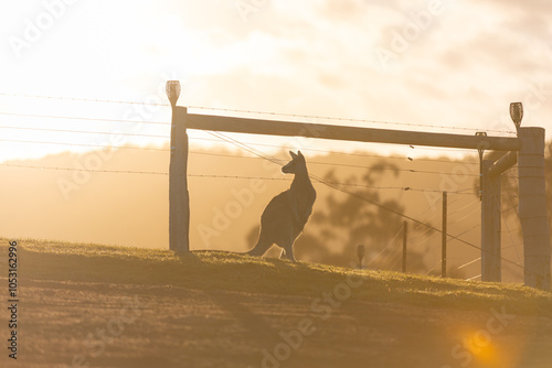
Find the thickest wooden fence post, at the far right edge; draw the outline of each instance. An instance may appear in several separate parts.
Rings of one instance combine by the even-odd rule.
[[[544,181],[544,129],[519,128],[519,217],[526,285],[550,290],[550,228]]]

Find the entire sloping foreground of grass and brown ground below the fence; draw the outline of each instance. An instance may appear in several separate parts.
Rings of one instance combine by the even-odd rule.
[[[2,367],[552,367],[552,294],[521,285],[214,251],[18,247],[18,360],[4,351]]]

